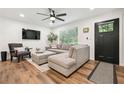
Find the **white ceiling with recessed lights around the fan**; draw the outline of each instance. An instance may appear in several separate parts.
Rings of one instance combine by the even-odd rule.
[[[56,20],[54,24],[50,25],[50,20],[42,19],[46,18],[43,15],[37,15],[37,12],[49,14],[47,8],[0,8],[0,16],[11,18],[18,21],[24,21],[31,24],[42,25],[45,27],[53,28],[60,25],[64,25],[76,20],[85,19],[88,17],[96,16],[114,10],[114,8],[95,8],[90,10],[89,8],[52,8],[57,14],[67,13],[67,16],[61,17],[65,21]],[[24,14],[22,18],[19,14]]]

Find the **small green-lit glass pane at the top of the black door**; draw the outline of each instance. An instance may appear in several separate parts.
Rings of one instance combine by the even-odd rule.
[[[99,32],[112,32],[113,27],[114,27],[113,25],[114,25],[114,21],[99,24],[98,25],[98,31]]]

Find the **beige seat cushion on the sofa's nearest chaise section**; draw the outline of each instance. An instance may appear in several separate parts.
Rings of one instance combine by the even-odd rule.
[[[67,69],[71,68],[74,64],[76,64],[75,59],[68,57],[68,53],[50,56],[48,57],[48,61],[53,62]]]

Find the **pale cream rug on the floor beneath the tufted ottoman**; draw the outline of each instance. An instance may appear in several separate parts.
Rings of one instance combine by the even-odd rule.
[[[38,65],[35,62],[33,62],[31,59],[26,58],[26,60],[31,63],[32,65],[34,65],[37,69],[39,69],[41,72],[45,72],[48,71],[50,68],[48,67],[48,64],[42,64],[42,65]]]

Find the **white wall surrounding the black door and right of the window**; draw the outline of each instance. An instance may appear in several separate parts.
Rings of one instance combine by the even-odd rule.
[[[124,59],[123,59],[123,55],[124,55],[124,41],[122,38],[122,21],[124,21],[122,19],[123,16],[123,11],[122,10],[118,10],[118,11],[112,11],[109,13],[105,13],[99,16],[95,16],[92,18],[87,18],[85,20],[80,20],[77,22],[73,22],[71,24],[66,24],[62,27],[57,27],[54,28],[53,30],[55,31],[55,33],[59,33],[59,31],[63,31],[64,29],[70,29],[73,27],[78,27],[78,43],[79,44],[88,44],[90,46],[90,59],[94,60],[94,23],[96,22],[100,22],[100,21],[104,21],[104,20],[109,20],[109,19],[114,19],[114,18],[120,18],[120,65],[124,65]],[[83,28],[84,27],[89,27],[90,31],[89,33],[83,33]],[[87,40],[86,37],[88,37],[89,39]],[[123,46],[122,46],[123,45]],[[123,51],[123,52],[122,52]]]

